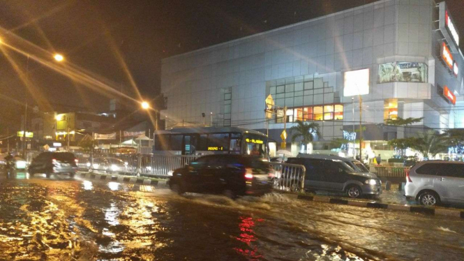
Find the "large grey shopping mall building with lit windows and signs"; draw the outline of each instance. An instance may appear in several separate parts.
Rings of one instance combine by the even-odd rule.
[[[452,15],[444,2],[383,0],[164,59],[167,127],[242,126],[269,131],[278,147],[285,114],[287,128],[320,124],[313,149],[327,150],[353,136],[362,113],[370,153],[416,129],[462,128],[464,58]],[[396,117],[424,119],[384,124]],[[287,138],[287,149],[301,146]]]

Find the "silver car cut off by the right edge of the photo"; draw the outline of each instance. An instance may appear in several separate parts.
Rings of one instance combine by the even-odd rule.
[[[421,161],[406,174],[405,196],[420,204],[464,203],[464,163]]]

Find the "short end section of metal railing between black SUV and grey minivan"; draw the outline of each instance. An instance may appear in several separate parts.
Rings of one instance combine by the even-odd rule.
[[[306,167],[304,165],[271,163],[274,170],[274,188],[281,191],[304,191]]]

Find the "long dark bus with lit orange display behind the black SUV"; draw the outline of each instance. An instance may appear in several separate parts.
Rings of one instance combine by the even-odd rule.
[[[267,135],[239,127],[189,127],[155,133],[153,154],[241,154],[269,158]]]

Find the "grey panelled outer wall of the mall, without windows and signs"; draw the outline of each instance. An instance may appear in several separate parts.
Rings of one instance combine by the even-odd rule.
[[[170,121],[200,124],[202,112],[207,117],[213,112],[215,125],[262,130],[267,128],[264,99],[272,82],[322,77],[329,91],[324,87],[322,94],[285,97],[279,105],[294,107],[301,99],[303,106],[343,103],[344,124],[352,125],[352,98],[343,97],[343,73],[369,68],[371,87],[363,96],[363,121],[383,123],[384,100],[389,98],[401,101],[401,117],[424,115],[424,107],[437,110],[442,104],[435,98],[435,79],[442,81],[442,72],[436,68],[433,53],[433,12],[431,0],[377,1],[164,59],[161,91],[167,97],[167,110],[163,114]],[[389,62],[425,63],[428,80],[377,83],[379,64]],[[357,97],[354,103],[354,121],[359,121]],[[403,106],[405,110],[401,110]],[[437,115],[429,114],[420,125],[440,125],[440,113]],[[324,139],[340,137],[342,122],[320,124]],[[271,123],[269,128],[283,128],[283,124]]]

